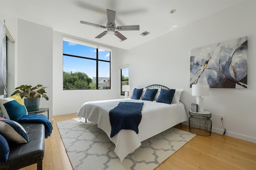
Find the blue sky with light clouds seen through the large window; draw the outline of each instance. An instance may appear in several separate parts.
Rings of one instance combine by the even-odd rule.
[[[96,48],[63,41],[63,53],[96,59]],[[110,51],[98,50],[98,58],[110,61]],[[110,63],[99,61],[98,76],[110,77]],[[96,61],[63,56],[63,71],[84,72],[90,78],[96,77]]]

